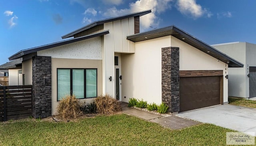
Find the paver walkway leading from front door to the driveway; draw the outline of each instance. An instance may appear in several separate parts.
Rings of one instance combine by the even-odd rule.
[[[186,119],[186,118],[181,118],[181,117],[178,117],[175,115],[164,117],[160,114],[154,114],[152,112],[147,112],[144,110],[129,108],[129,107],[127,107],[128,104],[123,103],[123,102],[121,103],[121,105],[122,105],[122,112],[124,112],[126,114],[137,116],[144,120],[148,120],[150,122],[155,122],[155,123],[158,123],[162,126],[165,126],[165,127],[171,128],[171,129],[182,129],[182,128],[200,124],[200,122]]]

